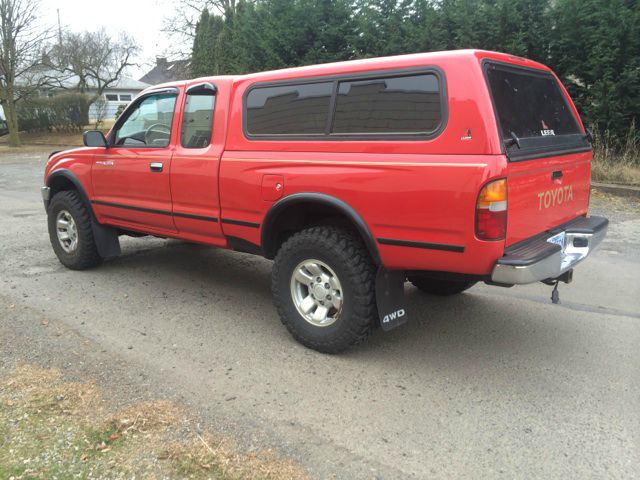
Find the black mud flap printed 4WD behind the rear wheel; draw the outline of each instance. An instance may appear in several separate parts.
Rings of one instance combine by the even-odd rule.
[[[376,274],[376,304],[380,325],[385,331],[399,327],[407,321],[404,303],[404,271],[389,271],[378,268]]]

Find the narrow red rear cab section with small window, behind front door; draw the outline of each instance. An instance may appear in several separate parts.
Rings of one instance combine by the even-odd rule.
[[[181,236],[225,245],[220,228],[218,174],[224,149],[227,90],[213,83],[188,86],[171,163],[173,219]]]

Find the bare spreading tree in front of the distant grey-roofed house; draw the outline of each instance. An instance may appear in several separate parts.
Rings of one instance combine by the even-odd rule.
[[[135,65],[138,51],[135,41],[124,33],[113,39],[104,29],[65,32],[62,43],[51,51],[54,70],[48,75],[47,84],[87,95],[86,103],[80,105],[81,120],[86,125],[90,105],[122,77],[127,67]]]

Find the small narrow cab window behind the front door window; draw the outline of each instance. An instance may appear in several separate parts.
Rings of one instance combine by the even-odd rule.
[[[212,90],[187,92],[182,117],[180,144],[185,148],[204,148],[211,142],[215,93]]]

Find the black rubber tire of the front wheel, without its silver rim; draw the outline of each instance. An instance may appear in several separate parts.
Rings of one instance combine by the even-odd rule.
[[[56,217],[61,210],[67,210],[76,224],[78,246],[71,253],[64,251],[56,233]],[[47,215],[49,239],[60,263],[72,270],[85,270],[97,267],[102,263],[103,258],[98,253],[98,248],[93,238],[91,213],[78,192],[64,190],[56,193],[49,203]]]

